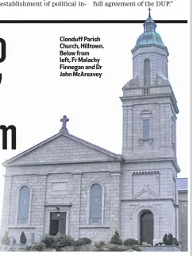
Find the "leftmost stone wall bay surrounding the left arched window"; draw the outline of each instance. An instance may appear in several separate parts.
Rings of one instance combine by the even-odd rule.
[[[17,235],[15,237],[17,241],[19,241],[21,231],[25,229],[27,239],[29,239],[28,235],[31,235],[32,232],[35,233],[36,240],[39,240],[42,235],[44,228],[45,184],[46,176],[13,176],[9,223],[6,229],[9,230],[10,235]],[[20,194],[21,188],[24,187],[29,188],[28,197],[26,195],[22,197]],[[22,202],[24,206],[19,210],[19,204],[22,204]]]

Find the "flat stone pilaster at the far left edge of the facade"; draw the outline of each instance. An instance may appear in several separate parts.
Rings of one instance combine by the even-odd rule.
[[[2,206],[2,228],[1,234],[4,235],[9,226],[10,219],[10,200],[12,191],[12,176],[5,176],[3,206]]]

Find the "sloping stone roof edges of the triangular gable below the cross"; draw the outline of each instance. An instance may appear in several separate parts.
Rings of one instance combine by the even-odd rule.
[[[6,160],[5,162],[2,163],[3,166],[8,166],[8,165],[12,165],[12,163],[14,161],[17,161],[20,157],[24,157],[25,155],[33,152],[33,150],[41,148],[41,146],[46,145],[48,142],[52,142],[54,139],[59,138],[61,136],[64,136],[65,138],[69,138],[74,142],[79,142],[82,145],[86,145],[87,147],[91,148],[91,149],[95,149],[97,150],[99,153],[104,153],[106,154],[108,157],[113,157],[114,161],[122,161],[122,155],[120,154],[116,154],[116,153],[112,153],[109,150],[103,149],[101,147],[99,147],[98,145],[92,144],[90,142],[84,141],[81,138],[75,137],[74,135],[68,134],[66,132],[63,132],[62,130],[60,130],[60,133],[53,135],[52,137],[44,140],[41,143],[38,143],[37,145],[34,145],[33,147],[25,150],[22,153],[17,154],[15,157],[10,158],[9,160]]]

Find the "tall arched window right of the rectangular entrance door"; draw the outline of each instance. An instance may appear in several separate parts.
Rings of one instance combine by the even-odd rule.
[[[90,223],[102,223],[102,187],[99,184],[91,185]]]

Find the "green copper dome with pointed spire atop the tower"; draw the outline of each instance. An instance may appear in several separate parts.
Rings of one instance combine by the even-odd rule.
[[[150,10],[149,17],[144,23],[144,33],[142,33],[141,36],[138,37],[137,43],[134,48],[139,45],[160,45],[166,48],[163,41],[161,40],[160,34],[156,33],[156,23],[152,20]]]

